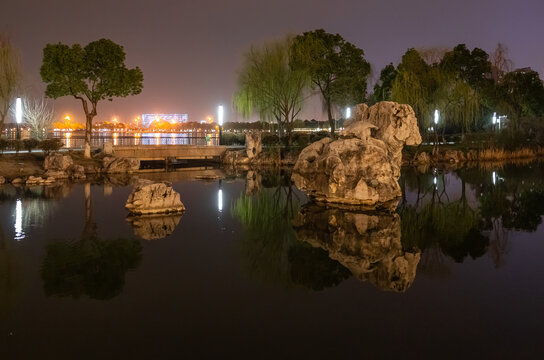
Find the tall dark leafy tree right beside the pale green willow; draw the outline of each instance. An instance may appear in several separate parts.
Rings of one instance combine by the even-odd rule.
[[[291,64],[308,71],[321,93],[334,137],[333,107],[366,101],[370,64],[364,58],[364,51],[338,34],[318,29],[295,37],[292,55]]]

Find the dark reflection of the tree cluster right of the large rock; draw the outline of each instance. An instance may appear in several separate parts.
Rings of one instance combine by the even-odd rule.
[[[495,266],[501,266],[509,251],[509,232],[535,231],[542,221],[542,170],[538,163],[461,168],[456,171],[460,195],[452,199],[449,193],[459,190],[449,188],[453,173],[405,169],[403,194],[408,187],[416,199],[409,202],[404,196],[398,208],[403,246],[422,250],[421,270],[433,275],[448,273],[444,255],[463,262],[488,252]]]

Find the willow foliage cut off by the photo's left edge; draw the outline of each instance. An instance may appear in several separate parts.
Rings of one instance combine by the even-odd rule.
[[[21,82],[20,62],[9,38],[0,36],[0,129]]]

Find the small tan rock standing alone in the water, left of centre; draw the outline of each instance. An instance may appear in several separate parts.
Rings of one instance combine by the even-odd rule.
[[[142,181],[129,195],[125,207],[133,215],[170,214],[185,211],[179,193],[169,182]]]

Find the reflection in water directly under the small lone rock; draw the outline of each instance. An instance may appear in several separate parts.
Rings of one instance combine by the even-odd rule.
[[[182,214],[129,217],[127,221],[134,228],[134,235],[144,240],[157,240],[172,234]]]

